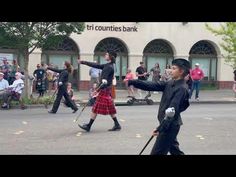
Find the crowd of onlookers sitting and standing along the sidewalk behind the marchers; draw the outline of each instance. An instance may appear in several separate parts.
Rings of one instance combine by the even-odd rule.
[[[53,67],[53,64],[50,64],[49,66]],[[57,90],[58,73],[47,70],[46,67],[47,65],[44,63],[37,64],[36,69],[33,72],[34,88],[39,94],[39,97],[43,97],[45,92],[49,90]],[[101,70],[99,69],[90,68],[89,70],[90,105],[93,105],[95,102],[95,98],[92,97],[92,93],[99,84],[100,74]],[[147,71],[144,62],[140,62],[140,66],[136,68],[135,74],[132,73],[130,68],[128,68],[126,76],[123,80],[128,91],[128,96],[135,96],[135,90],[133,86],[128,86],[129,80],[135,78],[140,80],[148,80],[149,77],[152,77],[150,80],[153,82],[169,81],[171,80],[171,66],[167,64],[164,71],[161,71],[159,63],[156,63],[150,69],[150,71]],[[204,73],[200,69],[200,64],[196,63],[195,68],[191,69],[190,74],[185,77],[186,83],[189,87],[190,99],[192,97],[193,91],[196,90],[195,99],[197,101],[199,100],[200,82],[203,78]],[[116,84],[113,84],[114,88],[115,85]],[[2,101],[2,108],[9,108],[9,101],[11,99],[19,99],[23,92],[23,89],[24,72],[22,72],[19,65],[17,64],[17,60],[14,59],[12,60],[12,63],[9,63],[7,59],[4,58],[2,60],[2,64],[0,65],[0,101]],[[234,70],[234,82],[232,90],[235,93],[236,98],[236,70]],[[142,91],[137,90],[137,92],[139,96],[142,97]],[[71,95],[72,100],[75,100],[71,83],[68,83],[68,93],[69,95]]]

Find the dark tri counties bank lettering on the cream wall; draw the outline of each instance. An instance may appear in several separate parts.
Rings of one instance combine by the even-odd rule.
[[[88,31],[114,31],[114,32],[138,32],[137,26],[116,26],[116,25],[86,25]]]

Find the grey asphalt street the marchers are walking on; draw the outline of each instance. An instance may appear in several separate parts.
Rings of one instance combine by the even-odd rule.
[[[0,154],[137,155],[158,125],[158,107],[118,106],[121,131],[107,131],[113,121],[98,115],[89,133],[73,122],[81,107],[76,114],[62,105],[57,114],[45,108],[0,110]],[[80,124],[89,121],[90,111],[84,110]],[[236,154],[235,104],[192,104],[182,119],[178,140],[186,154]]]

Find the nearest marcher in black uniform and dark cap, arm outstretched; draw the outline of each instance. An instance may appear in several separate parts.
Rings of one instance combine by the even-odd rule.
[[[128,84],[136,88],[148,91],[163,91],[158,120],[159,126],[153,135],[157,136],[151,155],[184,155],[179,149],[177,135],[183,124],[180,113],[189,107],[188,86],[184,77],[189,74],[189,61],[178,58],[172,61],[172,80],[150,82],[141,80],[129,80]]]

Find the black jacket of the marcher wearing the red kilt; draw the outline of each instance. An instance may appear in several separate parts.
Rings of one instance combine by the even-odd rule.
[[[98,63],[93,63],[93,62],[88,62],[88,61],[81,61],[81,64],[102,70],[101,77],[100,77],[100,83],[101,83],[102,79],[107,80],[107,85],[104,85],[102,88],[110,87],[112,85],[112,79],[114,76],[113,63],[98,64]]]

